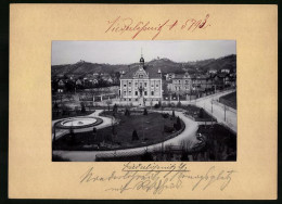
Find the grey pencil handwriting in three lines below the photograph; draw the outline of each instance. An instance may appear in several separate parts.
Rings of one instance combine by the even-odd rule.
[[[87,169],[80,177],[80,183],[110,182],[113,187],[105,191],[115,191],[125,193],[126,191],[141,190],[161,194],[165,190],[180,189],[183,182],[191,183],[191,191],[218,188],[223,191],[232,181],[234,170],[218,169],[215,166],[209,167],[204,174],[197,174],[190,170],[187,164],[169,164],[161,166],[155,163],[134,164],[126,163],[121,171],[112,171],[112,174],[97,175],[93,167]]]

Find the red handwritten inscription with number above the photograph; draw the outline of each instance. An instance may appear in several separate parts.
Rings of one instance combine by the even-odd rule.
[[[132,34],[131,39],[136,39],[141,33],[152,33],[152,40],[164,30],[182,30],[182,31],[195,31],[206,29],[210,26],[208,23],[209,14],[206,14],[203,18],[187,18],[180,20],[164,20],[159,23],[152,23],[151,21],[134,21],[131,17],[117,16],[114,20],[106,22],[106,34],[119,34],[124,33]]]

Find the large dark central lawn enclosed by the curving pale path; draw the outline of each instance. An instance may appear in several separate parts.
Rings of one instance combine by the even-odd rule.
[[[113,115],[112,112],[105,112],[104,115]],[[124,113],[117,113],[116,119],[119,122],[113,127],[106,127],[93,132],[75,133],[72,137],[67,133],[55,141],[54,150],[110,150],[144,146],[152,143],[158,143],[167,140],[177,130],[174,125],[177,123],[177,117],[164,117],[161,113],[149,113],[143,115],[142,112],[131,112],[130,116]],[[181,122],[182,127],[184,127]],[[164,126],[168,130],[164,131]],[[137,139],[133,140],[132,132],[137,131]],[[101,143],[111,144],[112,146],[102,145]]]

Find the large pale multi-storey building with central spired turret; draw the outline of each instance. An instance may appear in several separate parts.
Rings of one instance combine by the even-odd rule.
[[[120,100],[152,104],[163,98],[162,72],[158,67],[145,66],[141,56],[138,66],[128,68],[120,76]]]

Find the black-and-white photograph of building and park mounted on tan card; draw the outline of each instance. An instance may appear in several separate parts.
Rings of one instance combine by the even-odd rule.
[[[52,162],[235,162],[236,41],[52,41]]]

